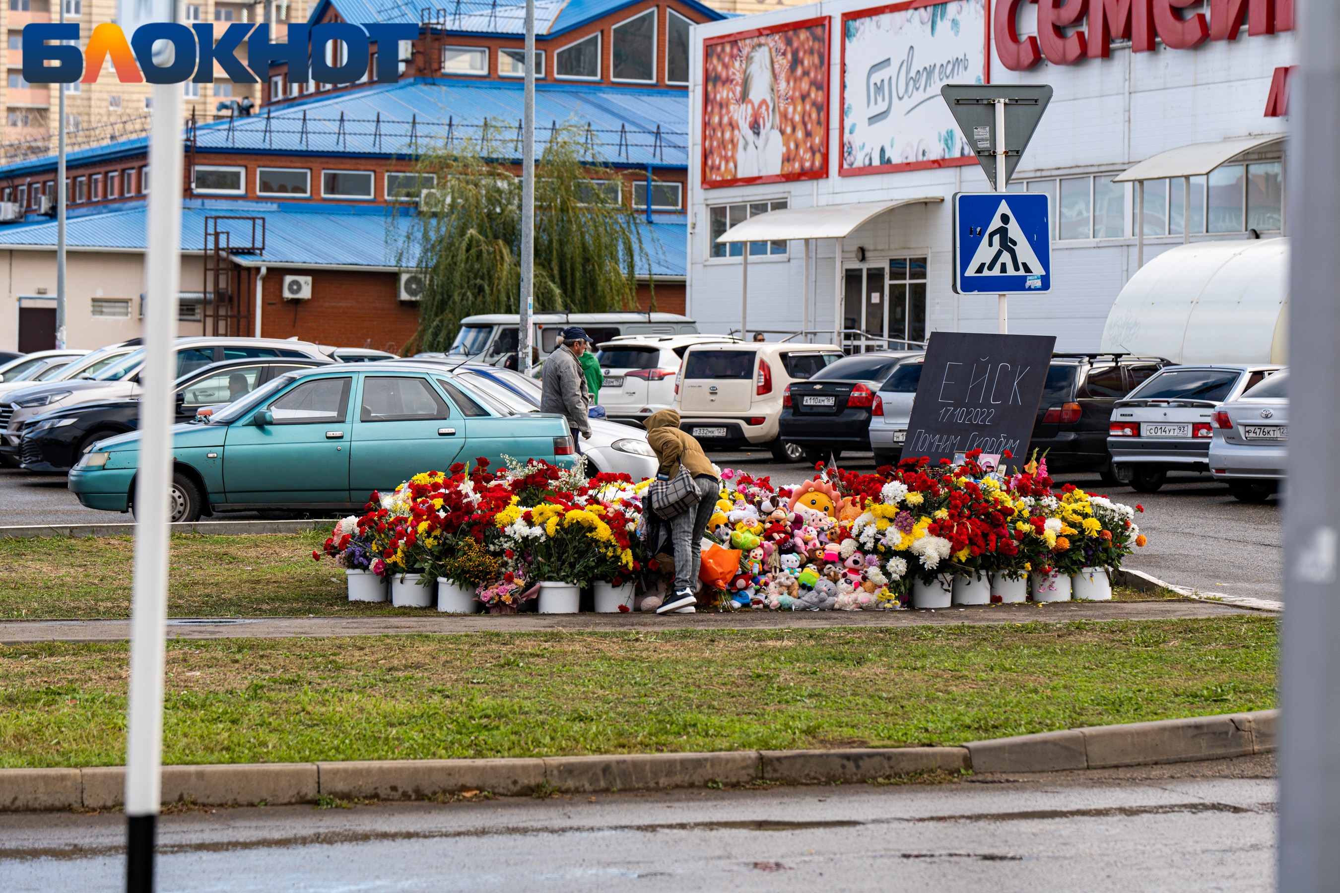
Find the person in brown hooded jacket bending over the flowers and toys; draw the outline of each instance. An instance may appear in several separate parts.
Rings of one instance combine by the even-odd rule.
[[[694,593],[698,588],[698,564],[702,550],[699,542],[708,529],[708,521],[717,510],[721,478],[717,477],[716,469],[702,451],[702,444],[691,434],[679,430],[678,412],[661,410],[647,416],[642,424],[647,428],[647,446],[655,451],[661,461],[657,475],[673,478],[679,474],[679,467],[683,466],[693,475],[698,487],[697,505],[669,521],[670,542],[674,548],[674,590],[657,608],[658,615],[671,611],[689,613],[698,602]]]

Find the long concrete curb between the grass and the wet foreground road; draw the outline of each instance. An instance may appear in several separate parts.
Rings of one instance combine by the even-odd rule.
[[[251,806],[339,799],[423,799],[460,791],[527,795],[828,785],[931,771],[1053,773],[1268,754],[1280,711],[1191,716],[970,742],[962,747],[610,754],[519,759],[351,760],[163,766],[163,803]],[[118,809],[125,768],[3,768],[0,811]]]

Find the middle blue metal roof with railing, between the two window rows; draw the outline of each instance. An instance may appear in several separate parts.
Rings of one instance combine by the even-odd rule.
[[[520,159],[523,84],[505,80],[415,78],[394,84],[285,102],[263,114],[196,126],[197,151],[409,157],[446,142],[474,139],[488,127],[490,155]],[[536,139],[568,126],[603,165],[689,166],[689,94],[683,90],[543,83],[535,91]],[[67,165],[145,151],[146,137],[80,149]],[[0,166],[0,177],[55,167],[55,157]]]

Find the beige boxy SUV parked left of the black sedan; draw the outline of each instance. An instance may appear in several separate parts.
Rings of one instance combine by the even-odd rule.
[[[832,344],[694,344],[675,376],[679,427],[704,449],[768,449],[779,462],[799,462],[804,451],[777,438],[781,395],[842,359]]]

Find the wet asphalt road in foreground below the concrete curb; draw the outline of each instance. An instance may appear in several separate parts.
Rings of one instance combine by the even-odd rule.
[[[938,786],[503,798],[159,819],[158,889],[1268,890],[1273,759]],[[123,889],[118,813],[0,815],[7,890]]]

